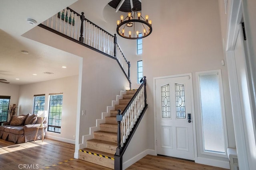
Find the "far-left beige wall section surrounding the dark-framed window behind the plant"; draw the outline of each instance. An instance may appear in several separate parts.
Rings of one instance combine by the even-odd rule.
[[[16,104],[18,106],[19,89],[18,85],[0,83],[0,96],[11,96],[10,105]],[[18,111],[19,109],[16,110],[16,115],[18,115]],[[8,114],[9,119],[10,116]]]

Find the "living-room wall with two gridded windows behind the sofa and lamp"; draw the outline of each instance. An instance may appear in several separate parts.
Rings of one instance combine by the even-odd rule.
[[[76,134],[78,76],[20,86],[19,114],[33,113],[34,95],[36,94],[45,94],[44,110],[48,110],[49,94],[60,92],[63,92],[61,133],[46,132],[46,137],[74,143],[73,136]]]

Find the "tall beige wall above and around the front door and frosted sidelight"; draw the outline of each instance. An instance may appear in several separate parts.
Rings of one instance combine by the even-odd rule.
[[[218,1],[147,1],[142,2],[142,11],[149,15],[153,27],[152,34],[143,41],[142,55],[148,80],[148,149],[154,149],[153,77],[192,72],[198,157],[228,161],[201,154],[197,124],[200,108],[195,72],[221,69],[228,143],[229,147],[235,146],[227,68],[221,65],[224,55]]]

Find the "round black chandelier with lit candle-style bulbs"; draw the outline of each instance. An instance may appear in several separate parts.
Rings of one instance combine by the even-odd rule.
[[[145,19],[140,12],[136,11],[136,8],[132,8],[132,12],[129,12],[126,18],[120,16],[120,20],[116,22],[116,32],[127,39],[145,38],[152,33],[152,21],[148,20],[148,15],[145,16]]]

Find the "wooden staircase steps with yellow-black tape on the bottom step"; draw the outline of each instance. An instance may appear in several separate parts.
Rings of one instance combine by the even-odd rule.
[[[93,134],[93,139],[87,141],[87,148],[80,149],[79,159],[114,169],[114,154],[117,148],[117,110],[121,111],[127,106],[137,90],[127,90],[115,110],[110,111],[110,117],[100,124],[100,131]]]

